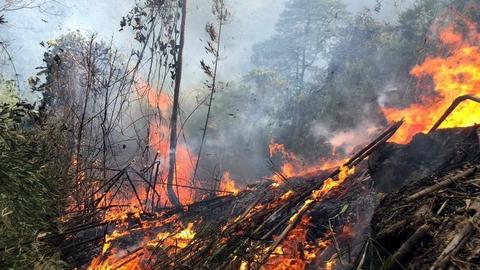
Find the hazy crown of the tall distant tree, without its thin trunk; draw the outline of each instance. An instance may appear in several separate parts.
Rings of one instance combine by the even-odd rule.
[[[254,46],[253,63],[278,71],[302,89],[305,80],[322,65],[321,57],[337,38],[346,15],[345,5],[339,1],[289,0],[276,34]]]

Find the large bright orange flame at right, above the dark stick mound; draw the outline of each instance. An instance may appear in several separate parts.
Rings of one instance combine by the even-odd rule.
[[[404,109],[383,108],[389,121],[405,119],[391,141],[408,143],[413,135],[428,131],[451,103],[462,95],[480,95],[480,34],[476,25],[465,18],[458,18],[466,28],[460,33],[450,24],[443,27],[439,41],[449,52],[446,57],[427,57],[422,64],[411,70],[417,78],[430,76],[435,86],[435,95],[424,95],[421,102]],[[479,122],[480,105],[471,101],[461,104],[441,125],[443,128],[466,127]]]

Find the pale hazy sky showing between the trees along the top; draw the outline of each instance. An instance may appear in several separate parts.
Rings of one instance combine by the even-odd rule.
[[[0,0],[5,1],[5,0]],[[232,18],[224,28],[220,62],[222,80],[241,78],[252,66],[250,56],[252,45],[268,39],[275,31],[275,23],[287,0],[227,0]],[[344,0],[352,13],[366,8],[374,9],[378,0]],[[383,0],[379,17],[391,19],[391,14],[411,4],[413,0]],[[20,79],[25,80],[35,73],[35,67],[42,65],[44,48],[41,41],[59,37],[70,30],[85,34],[97,33],[104,40],[114,44],[126,54],[130,52],[132,33],[119,32],[120,18],[133,7],[134,0],[65,0],[56,5],[56,14],[46,14],[37,9],[8,12],[8,24],[0,29],[0,39],[6,40]],[[1,4],[0,4],[1,5]],[[200,69],[200,60],[208,59],[204,51],[205,24],[211,21],[209,0],[190,0],[187,21],[187,42],[185,47],[185,78],[183,88],[192,89],[205,79]],[[11,67],[5,73],[12,73]],[[10,70],[8,70],[10,69]]]

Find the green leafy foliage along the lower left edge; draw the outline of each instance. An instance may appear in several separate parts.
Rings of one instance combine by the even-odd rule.
[[[56,230],[62,179],[50,171],[47,134],[27,127],[31,112],[28,104],[0,105],[0,269],[64,266],[53,248],[36,240]]]

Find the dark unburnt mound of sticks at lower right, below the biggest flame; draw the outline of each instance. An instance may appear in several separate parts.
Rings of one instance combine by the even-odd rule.
[[[412,141],[413,146],[419,141],[435,142],[436,147],[423,153],[416,148],[416,157],[410,156],[411,160],[429,156],[417,159],[414,167],[418,175],[427,175],[412,178],[407,186],[386,195],[375,210],[371,222],[375,242],[368,249],[371,264],[365,269],[478,269],[478,132],[478,126],[441,130]],[[408,147],[397,154],[407,152]]]

